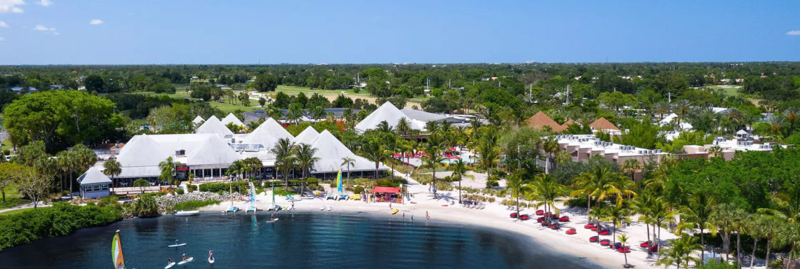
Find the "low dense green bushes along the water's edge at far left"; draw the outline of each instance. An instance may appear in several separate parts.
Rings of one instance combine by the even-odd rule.
[[[54,203],[0,218],[0,249],[30,243],[37,239],[69,235],[84,227],[97,227],[122,220],[117,206],[78,206]]]

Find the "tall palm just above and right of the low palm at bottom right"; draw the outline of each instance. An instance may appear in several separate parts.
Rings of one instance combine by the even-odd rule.
[[[700,244],[706,247],[706,238],[703,231],[709,230],[711,235],[717,235],[717,228],[711,222],[714,206],[716,206],[714,197],[705,192],[691,196],[689,198],[689,206],[681,208],[681,223],[678,224],[678,235],[684,228],[697,228],[700,230]],[[700,257],[703,256],[703,251],[700,250]],[[700,263],[702,264],[702,260]]]

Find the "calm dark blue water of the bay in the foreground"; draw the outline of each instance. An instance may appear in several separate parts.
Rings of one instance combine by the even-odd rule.
[[[162,216],[124,220],[0,251],[0,268],[113,268],[111,238],[120,230],[129,268],[597,268],[587,259],[544,251],[519,235],[402,216],[281,213],[256,216]],[[186,247],[166,247],[174,239]]]

